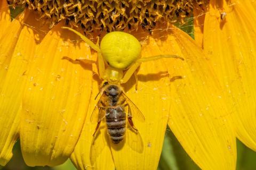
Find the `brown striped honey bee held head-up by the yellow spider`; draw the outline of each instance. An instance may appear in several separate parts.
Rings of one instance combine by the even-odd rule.
[[[95,136],[101,121],[105,118],[111,141],[115,144],[121,142],[126,131],[126,114],[127,122],[132,130],[138,133],[132,121],[132,114],[140,121],[145,121],[145,117],[139,108],[124,94],[121,87],[105,81],[101,87],[101,93],[98,104],[91,115],[91,122],[98,122],[93,136]]]

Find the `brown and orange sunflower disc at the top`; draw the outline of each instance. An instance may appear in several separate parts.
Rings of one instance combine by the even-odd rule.
[[[157,22],[177,21],[193,15],[193,4],[204,8],[209,0],[179,1],[71,1],[71,0],[8,0],[13,7],[28,7],[47,19],[51,25],[61,20],[81,27],[86,33],[94,30],[118,31],[138,29],[151,30]]]

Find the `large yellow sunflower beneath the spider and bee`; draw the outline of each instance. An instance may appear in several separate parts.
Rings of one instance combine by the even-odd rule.
[[[28,1],[10,2],[15,6]],[[105,8],[111,6],[106,2],[97,5],[101,11],[96,18],[107,16]],[[31,1],[29,8],[37,13],[26,9],[13,21],[6,1],[0,2],[2,166],[11,159],[12,147],[19,138],[22,156],[29,166],[60,165],[70,157],[78,169],[156,169],[167,125],[202,169],[235,169],[236,138],[256,150],[256,19],[252,17],[256,15],[256,3],[211,0],[205,5],[204,1],[195,1],[193,7],[190,1],[181,1],[177,5],[181,10],[169,12],[170,16],[164,13],[170,4],[159,1],[145,7],[147,1],[131,1],[137,6],[129,9],[142,14],[129,20],[124,11],[129,4],[125,2],[110,18],[101,17],[101,23],[93,20],[93,14],[98,13],[93,1],[81,15],[74,14],[83,11],[81,3],[64,3],[63,8],[58,8],[47,1]],[[159,10],[161,5],[164,11]],[[138,6],[144,10],[138,12]],[[177,19],[173,15],[182,21],[192,8],[195,40],[169,24]],[[120,15],[122,19],[116,17]],[[42,18],[45,22],[38,22]],[[170,21],[155,22],[158,19]],[[47,22],[51,22],[51,29]],[[90,116],[101,80],[96,65],[74,64],[63,57],[97,61],[97,53],[73,32],[61,29],[67,23],[92,37],[101,25],[105,31],[124,29],[141,41],[142,57],[175,54],[185,58],[142,63],[138,89],[135,78],[123,86],[145,116],[145,122],[134,120],[143,151],[134,151],[126,143],[117,146],[100,135],[100,152],[91,163],[95,124]],[[101,128],[102,133],[105,129]]]

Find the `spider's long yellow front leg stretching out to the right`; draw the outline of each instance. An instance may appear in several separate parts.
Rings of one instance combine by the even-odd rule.
[[[177,55],[156,55],[152,57],[140,58],[134,64],[132,64],[131,67],[126,71],[123,79],[121,79],[121,83],[126,83],[131,78],[132,74],[136,72],[141,63],[159,60],[161,58],[178,58],[180,60],[184,60],[182,57]]]

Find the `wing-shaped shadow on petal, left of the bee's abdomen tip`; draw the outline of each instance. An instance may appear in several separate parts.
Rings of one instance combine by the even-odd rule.
[[[97,158],[100,156],[102,150],[107,146],[108,140],[106,137],[107,137],[106,122],[102,120],[101,125],[91,142],[91,148],[90,148],[91,165],[94,165]]]

